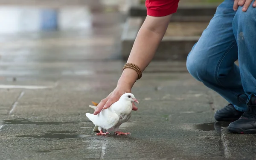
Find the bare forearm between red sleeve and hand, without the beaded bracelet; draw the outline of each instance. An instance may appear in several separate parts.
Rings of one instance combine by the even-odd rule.
[[[169,24],[169,18],[166,17],[147,17],[140,31],[137,34],[134,46],[131,49],[127,63],[136,64],[141,71],[144,71],[154,57],[159,43],[163,39]],[[125,69],[118,83],[126,83],[132,87],[138,78],[138,74],[133,69]]]

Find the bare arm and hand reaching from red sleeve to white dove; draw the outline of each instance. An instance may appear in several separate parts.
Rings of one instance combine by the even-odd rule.
[[[153,59],[157,47],[163,39],[171,16],[170,14],[164,17],[146,17],[137,34],[127,63],[134,63],[144,71]],[[120,96],[125,92],[131,92],[131,88],[137,78],[138,74],[136,71],[133,69],[125,69],[118,80],[116,89],[99,103],[94,114],[98,114],[103,107],[107,109],[114,102],[118,101]],[[137,110],[137,107],[134,106],[133,110]]]

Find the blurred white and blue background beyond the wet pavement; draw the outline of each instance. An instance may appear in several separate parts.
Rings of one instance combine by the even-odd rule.
[[[181,0],[184,3],[219,3],[221,0]],[[44,30],[83,30],[95,23],[120,20],[113,12],[126,14],[129,7],[145,0],[0,0],[0,34]],[[105,13],[104,18],[99,13]],[[107,23],[105,22],[105,23]]]

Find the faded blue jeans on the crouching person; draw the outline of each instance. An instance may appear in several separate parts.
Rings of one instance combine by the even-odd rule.
[[[254,0],[253,0],[254,2]],[[256,94],[256,8],[246,12],[224,0],[187,57],[189,73],[218,92],[239,111],[239,94]],[[239,66],[234,62],[238,60]]]

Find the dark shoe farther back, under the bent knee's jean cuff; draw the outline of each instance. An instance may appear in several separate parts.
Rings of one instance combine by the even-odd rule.
[[[223,109],[216,111],[214,118],[217,121],[235,121],[238,120],[244,112],[238,111],[232,104],[228,104]]]

